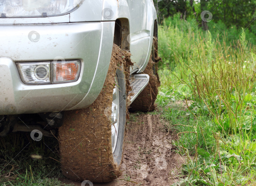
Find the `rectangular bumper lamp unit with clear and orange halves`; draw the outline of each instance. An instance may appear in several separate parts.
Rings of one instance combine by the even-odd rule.
[[[17,67],[25,84],[67,83],[79,78],[81,61],[22,62]]]

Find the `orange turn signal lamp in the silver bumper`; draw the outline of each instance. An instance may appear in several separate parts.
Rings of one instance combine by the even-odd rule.
[[[77,81],[81,70],[81,61],[53,61],[52,83]]]

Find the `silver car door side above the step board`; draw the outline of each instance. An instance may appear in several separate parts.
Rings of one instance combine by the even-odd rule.
[[[134,62],[130,72],[136,72],[143,66],[149,52],[150,28],[147,26],[147,3],[149,0],[127,0],[130,10],[130,51]],[[147,28],[148,27],[148,28]]]

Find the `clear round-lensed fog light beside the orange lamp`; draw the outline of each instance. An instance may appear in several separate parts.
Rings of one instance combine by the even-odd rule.
[[[21,80],[25,84],[50,84],[51,62],[17,63]]]

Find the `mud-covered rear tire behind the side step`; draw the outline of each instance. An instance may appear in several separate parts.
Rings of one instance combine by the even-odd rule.
[[[154,47],[154,45],[157,46],[156,42],[157,41],[154,39],[149,63],[143,71],[143,73],[149,75],[149,84],[131,103],[129,112],[151,112],[155,110],[155,100],[158,94],[158,87],[160,86],[160,80],[157,73],[157,62],[161,60],[157,54],[157,48]]]

